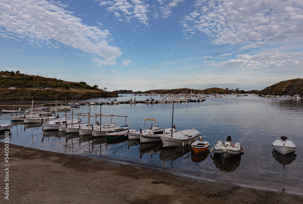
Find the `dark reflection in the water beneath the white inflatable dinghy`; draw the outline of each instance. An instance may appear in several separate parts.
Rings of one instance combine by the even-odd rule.
[[[220,154],[214,154],[214,157],[210,156],[211,160],[214,161],[216,167],[224,172],[231,172],[235,171],[235,169],[240,165],[241,162],[241,155],[237,154],[231,157],[225,157]]]

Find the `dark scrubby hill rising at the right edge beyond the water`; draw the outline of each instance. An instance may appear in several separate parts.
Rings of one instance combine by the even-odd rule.
[[[303,79],[290,79],[266,87],[258,92],[263,95],[303,95]]]

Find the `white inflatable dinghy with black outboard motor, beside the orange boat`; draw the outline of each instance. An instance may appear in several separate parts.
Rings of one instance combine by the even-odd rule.
[[[217,154],[221,154],[224,157],[230,157],[232,155],[237,155],[243,151],[244,149],[241,148],[241,144],[239,142],[236,142],[234,145],[231,142],[231,136],[228,136],[226,141],[223,143],[221,141],[218,141],[217,144],[213,149]]]

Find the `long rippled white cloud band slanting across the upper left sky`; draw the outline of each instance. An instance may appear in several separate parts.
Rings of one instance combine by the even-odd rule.
[[[66,7],[66,6],[63,6]],[[49,48],[58,43],[82,50],[94,55],[100,65],[115,64],[121,51],[108,44],[110,33],[96,26],[82,24],[82,19],[73,13],[45,0],[0,2],[0,31],[2,37],[12,36],[15,39],[26,39],[38,46]],[[56,46],[55,46],[56,45]]]

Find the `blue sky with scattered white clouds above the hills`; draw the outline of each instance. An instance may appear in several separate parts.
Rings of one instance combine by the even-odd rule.
[[[303,78],[301,0],[0,0],[0,70],[108,91]]]

